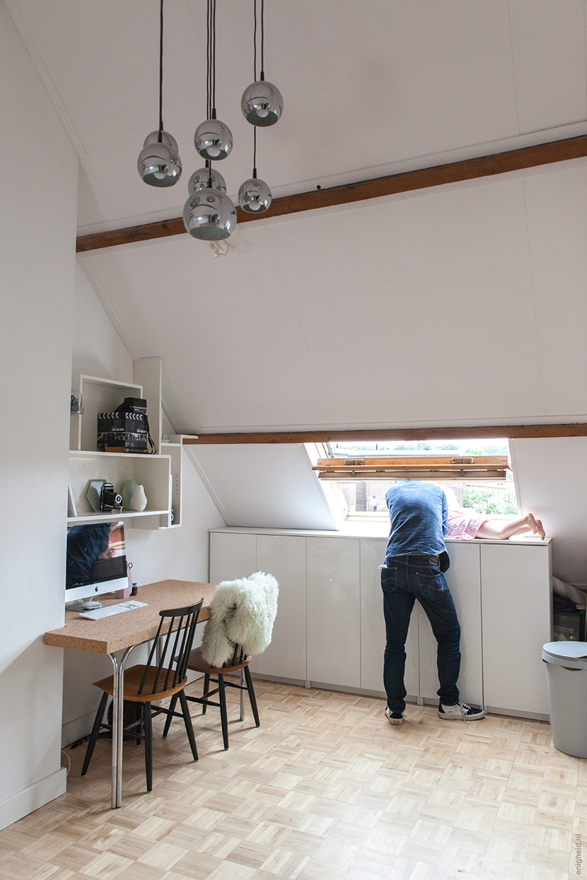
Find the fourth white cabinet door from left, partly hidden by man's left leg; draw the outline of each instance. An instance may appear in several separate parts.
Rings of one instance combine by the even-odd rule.
[[[361,687],[367,691],[384,691],[385,620],[378,566],[385,561],[386,545],[386,538],[361,539]],[[407,699],[415,700],[419,694],[416,611],[407,632],[404,683]]]

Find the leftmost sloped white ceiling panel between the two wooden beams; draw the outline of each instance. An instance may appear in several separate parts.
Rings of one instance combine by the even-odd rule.
[[[136,356],[163,358],[165,403],[187,432],[331,417],[264,229],[215,260],[191,238],[80,257]],[[178,412],[172,400],[180,400]]]

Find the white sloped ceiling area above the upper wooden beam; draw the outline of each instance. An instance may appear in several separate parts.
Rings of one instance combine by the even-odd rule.
[[[290,194],[493,152],[515,145],[520,131],[548,140],[554,126],[584,123],[582,5],[270,0],[265,70],[285,110],[259,133],[260,176],[274,194]],[[184,181],[154,190],[136,172],[158,126],[157,0],[8,7],[82,158],[80,230],[179,216]],[[205,115],[205,11],[204,0],[165,4],[164,120],[186,181],[202,165],[193,136]],[[216,104],[235,139],[222,163],[230,194],[253,165],[239,110],[253,78],[252,11],[245,0],[218,4]]]

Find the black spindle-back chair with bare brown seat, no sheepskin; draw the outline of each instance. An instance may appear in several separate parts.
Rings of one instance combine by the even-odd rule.
[[[124,673],[124,700],[141,703],[143,708],[142,717],[124,727],[124,734],[129,734],[138,741],[144,740],[144,762],[147,776],[147,791],[153,787],[153,748],[151,720],[161,713],[167,715],[165,734],[168,730],[172,716],[182,717],[186,725],[187,738],[192,749],[194,761],[198,759],[198,750],[195,744],[194,728],[189,715],[184,687],[187,684],[187,663],[194,642],[195,625],[202,609],[203,599],[195,605],[187,605],[185,608],[172,608],[168,611],[160,611],[159,627],[157,635],[150,649],[149,659],[145,665],[132,666]],[[159,639],[163,644],[159,643]],[[158,661],[151,665],[153,657],[158,652]],[[172,657],[169,668],[165,667],[165,657]],[[92,753],[99,737],[101,728],[112,730],[112,725],[103,721],[108,695],[114,694],[114,676],[102,678],[94,682],[104,693],[99,703],[98,712],[92,727],[92,734],[85,752],[82,776],[87,772]],[[168,708],[152,706],[156,700],[165,700],[171,697],[172,701]],[[175,712],[177,700],[180,700],[181,712]]]

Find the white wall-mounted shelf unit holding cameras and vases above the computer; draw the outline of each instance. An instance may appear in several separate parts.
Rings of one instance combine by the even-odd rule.
[[[161,442],[161,358],[135,361],[134,378],[134,383],[86,375],[79,378],[83,413],[71,414],[69,478],[77,517],[68,517],[70,525],[105,522],[113,517],[130,520],[133,528],[177,528],[181,524],[181,437]],[[157,454],[97,449],[98,414],[114,411],[125,397],[147,400]],[[136,480],[144,486],[146,509],[95,512],[87,499],[91,480],[107,480],[118,492],[127,480]]]

